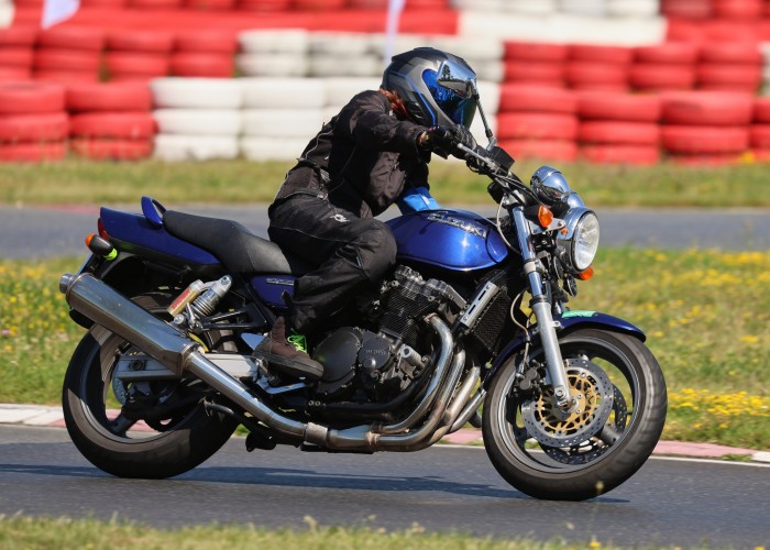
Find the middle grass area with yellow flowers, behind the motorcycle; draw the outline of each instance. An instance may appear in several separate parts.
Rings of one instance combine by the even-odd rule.
[[[62,273],[77,258],[0,261],[0,403],[57,404],[82,329]],[[663,437],[770,449],[770,252],[604,250],[571,306],[645,330],[669,385]]]

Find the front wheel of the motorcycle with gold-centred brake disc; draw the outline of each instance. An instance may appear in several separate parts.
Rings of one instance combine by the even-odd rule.
[[[522,391],[520,358],[512,358],[484,403],[484,446],[517,490],[583,501],[620,485],[652,453],[666,422],[666,382],[652,353],[631,336],[581,329],[559,344],[573,408],[556,409],[547,386]],[[542,361],[537,352],[531,359]]]

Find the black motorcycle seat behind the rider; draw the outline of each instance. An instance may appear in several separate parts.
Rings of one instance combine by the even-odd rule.
[[[217,256],[233,273],[301,275],[312,268],[233,220],[167,210],[163,215],[163,226],[177,239]]]

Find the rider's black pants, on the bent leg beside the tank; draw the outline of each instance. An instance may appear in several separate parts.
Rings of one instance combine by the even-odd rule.
[[[287,321],[300,333],[312,333],[396,264],[396,241],[385,223],[359,218],[327,199],[294,195],[271,206],[270,215],[271,240],[318,266],[295,283]]]

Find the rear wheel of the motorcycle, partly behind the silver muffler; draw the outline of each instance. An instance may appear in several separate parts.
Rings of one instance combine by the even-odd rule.
[[[162,316],[169,297],[134,299]],[[198,380],[127,383],[116,377],[121,360],[140,350],[102,327],[80,341],[64,382],[64,418],[75,446],[94,465],[121,477],[182,474],[211,457],[238,422],[209,415],[209,389]]]

